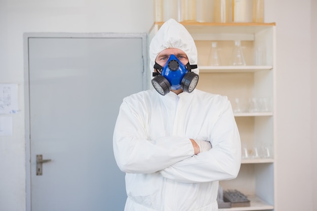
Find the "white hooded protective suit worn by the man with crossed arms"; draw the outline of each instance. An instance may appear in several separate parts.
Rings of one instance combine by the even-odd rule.
[[[192,37],[173,19],[151,41],[152,71],[157,54],[167,48],[184,51],[189,63],[197,64]],[[208,141],[212,148],[200,144],[201,152],[194,155],[189,139]],[[197,89],[166,96],[150,89],[126,97],[114,129],[113,150],[126,173],[125,211],[217,210],[218,181],[235,178],[241,164],[230,102]]]

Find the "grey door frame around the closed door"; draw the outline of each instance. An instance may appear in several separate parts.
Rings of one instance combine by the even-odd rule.
[[[29,38],[141,38],[143,69],[142,89],[148,87],[147,62],[147,34],[146,33],[54,33],[54,32],[26,32],[23,33],[23,60],[24,60],[24,123],[25,123],[25,178],[26,178],[26,211],[31,211],[31,138],[30,138],[30,108],[29,108]],[[34,173],[35,174],[35,173]]]

